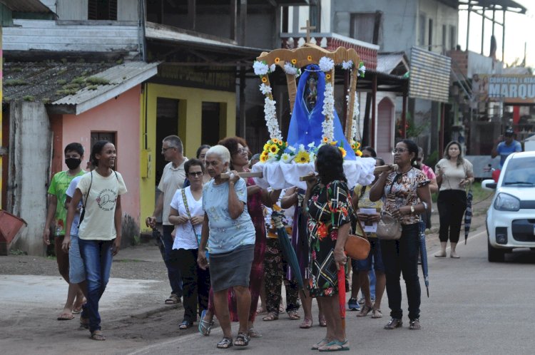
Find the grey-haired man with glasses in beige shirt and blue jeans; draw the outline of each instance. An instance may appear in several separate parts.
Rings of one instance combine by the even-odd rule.
[[[171,286],[171,295],[168,299],[165,299],[165,304],[177,304],[180,303],[180,297],[182,297],[182,281],[180,278],[180,269],[170,262],[171,250],[173,249],[173,237],[171,237],[171,233],[175,226],[169,222],[169,211],[171,200],[173,200],[176,190],[182,188],[184,185],[184,163],[188,158],[185,158],[183,155],[182,140],[176,135],[169,135],[163,138],[162,155],[165,161],[169,163],[163,168],[162,178],[158,185],[160,194],[158,195],[153,215],[147,217],[146,224],[151,228],[155,228],[156,218],[162,214],[162,241],[165,248],[164,261]]]

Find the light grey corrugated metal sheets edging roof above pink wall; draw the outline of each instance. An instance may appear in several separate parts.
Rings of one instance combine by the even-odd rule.
[[[74,95],[54,101],[52,105],[75,105],[76,115],[79,115],[155,76],[158,64],[136,61],[113,66],[93,75],[93,78],[106,81],[106,84],[83,88]]]

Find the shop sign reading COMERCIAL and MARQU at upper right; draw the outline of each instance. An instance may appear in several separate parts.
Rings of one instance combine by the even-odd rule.
[[[535,76],[479,74],[472,82],[474,96],[479,101],[504,103],[535,103]],[[475,77],[475,76],[474,76]],[[474,86],[474,82],[477,84]]]

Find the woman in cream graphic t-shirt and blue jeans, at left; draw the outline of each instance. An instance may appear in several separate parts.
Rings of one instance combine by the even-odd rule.
[[[80,322],[88,326],[91,339],[106,340],[98,314],[100,301],[110,278],[112,256],[121,246],[121,195],[126,185],[120,173],[113,170],[117,157],[115,145],[100,140],[91,149],[91,164],[95,170],[83,175],[68,206],[63,249],[71,245],[71,225],[76,206],[83,197],[84,211],[80,216],[78,243],[83,266],[86,268],[87,303],[82,307]]]

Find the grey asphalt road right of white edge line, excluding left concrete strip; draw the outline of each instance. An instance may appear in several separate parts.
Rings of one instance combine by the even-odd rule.
[[[478,230],[468,245],[459,245],[461,259],[430,256],[430,294],[422,298],[422,330],[387,331],[385,317],[357,318],[347,312],[347,336],[351,352],[360,354],[533,354],[535,349],[535,252],[509,255],[504,264],[486,260],[486,232]],[[424,294],[422,290],[422,295]],[[404,304],[404,312],[407,305]],[[322,339],[325,330],[298,328],[298,321],[284,315],[278,321],[257,322],[262,339],[253,339],[252,354],[308,354],[310,345]],[[235,329],[235,328],[234,328]],[[215,343],[222,333],[209,337],[180,336],[146,346],[131,354],[223,354]],[[231,350],[235,351],[235,350]]]

